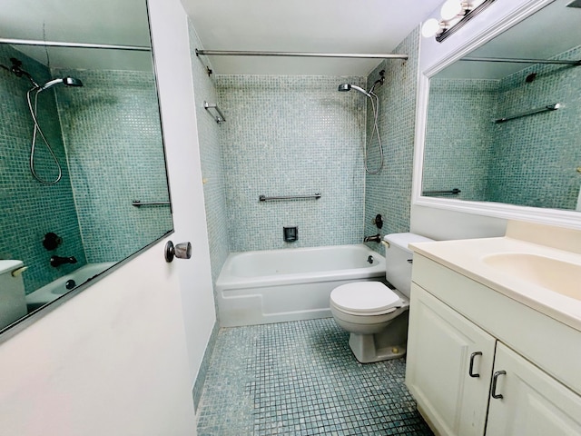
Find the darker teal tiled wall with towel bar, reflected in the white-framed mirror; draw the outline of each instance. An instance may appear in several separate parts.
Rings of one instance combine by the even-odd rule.
[[[556,59],[581,59],[581,46]],[[529,74],[536,73],[532,82]],[[494,124],[489,198],[501,203],[575,210],[581,175],[581,67],[532,65],[499,83],[500,116],[560,103],[555,112]]]

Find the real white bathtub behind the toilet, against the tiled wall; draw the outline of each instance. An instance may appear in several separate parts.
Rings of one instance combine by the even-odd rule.
[[[216,281],[220,323],[327,318],[334,288],[384,278],[385,258],[363,244],[231,253]]]

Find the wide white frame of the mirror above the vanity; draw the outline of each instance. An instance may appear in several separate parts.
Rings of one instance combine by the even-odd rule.
[[[471,20],[468,25],[458,31],[455,37],[448,38],[442,43],[437,43],[435,38],[430,38],[430,41],[422,38],[419,49],[419,82],[411,197],[413,205],[581,229],[581,212],[517,206],[508,203],[436,198],[421,194],[424,144],[428,124],[429,79],[459,58],[469,54],[480,45],[487,43],[554,1],[519,0],[515,2],[512,9],[504,11],[498,9],[500,6],[500,2],[498,2]]]

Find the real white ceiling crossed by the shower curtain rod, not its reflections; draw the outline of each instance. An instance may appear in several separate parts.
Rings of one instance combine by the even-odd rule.
[[[182,0],[182,3],[206,50],[383,54],[391,53],[443,0]],[[216,74],[367,76],[380,62],[297,57],[208,58]]]

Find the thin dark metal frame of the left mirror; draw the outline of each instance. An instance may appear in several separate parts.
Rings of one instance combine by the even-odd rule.
[[[95,275],[93,278],[87,280],[86,282],[76,286],[73,290],[69,292],[65,292],[60,297],[54,299],[52,302],[48,302],[43,306],[39,307],[38,309],[34,310],[33,312],[27,313],[22,318],[16,320],[15,322],[5,326],[4,328],[0,329],[0,344],[10,340],[19,332],[24,331],[27,327],[31,326],[34,322],[37,322],[41,318],[44,318],[45,315],[48,315],[50,312],[58,309],[61,305],[65,302],[68,302],[76,295],[81,292],[84,292],[87,288],[92,286],[95,282],[99,282],[103,280],[103,278],[107,277],[112,272],[117,271],[119,268],[122,268],[125,264],[133,261],[136,257],[141,255],[147,250],[150,250],[153,246],[157,245],[158,243],[162,243],[165,239],[167,239],[172,233],[175,233],[175,220],[173,216],[173,203],[172,203],[172,186],[170,184],[169,178],[169,170],[168,170],[168,162],[167,162],[167,151],[166,151],[166,139],[165,139],[165,131],[163,130],[163,120],[162,120],[162,107],[161,107],[161,96],[160,96],[160,87],[159,87],[159,79],[158,79],[158,72],[157,72],[157,64],[155,59],[155,50],[153,48],[153,35],[152,35],[152,25],[151,25],[151,17],[150,17],[150,7],[149,7],[149,0],[143,0],[145,5],[145,9],[147,12],[147,28],[148,28],[148,35],[149,35],[149,45],[150,50],[149,53],[151,55],[152,61],[152,73],[153,73],[153,84],[155,86],[155,95],[157,97],[157,104],[158,104],[158,116],[159,116],[159,124],[160,124],[160,132],[162,137],[162,154],[163,154],[163,170],[165,171],[165,181],[167,183],[168,189],[168,201],[169,201],[169,213],[171,214],[172,219],[172,228],[169,229],[167,232],[163,233],[162,235],[155,238],[150,243],[147,243],[139,250],[133,252],[128,257],[123,258],[122,260],[116,262],[110,268],[107,268],[103,272]],[[160,251],[160,258],[163,256],[163,248]]]

